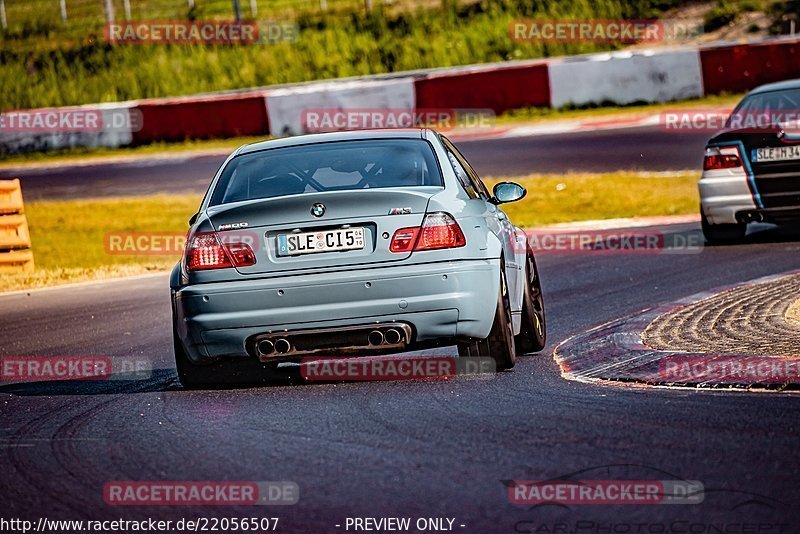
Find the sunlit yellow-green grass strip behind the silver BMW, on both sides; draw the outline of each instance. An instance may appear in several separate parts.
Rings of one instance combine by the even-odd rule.
[[[696,173],[531,175],[515,179],[528,189],[527,197],[503,209],[522,227],[695,213],[697,178]],[[115,232],[181,234],[199,204],[198,194],[29,202],[26,214],[36,268],[31,273],[4,274],[0,291],[166,271],[178,260],[177,254],[109,254],[105,236]]]

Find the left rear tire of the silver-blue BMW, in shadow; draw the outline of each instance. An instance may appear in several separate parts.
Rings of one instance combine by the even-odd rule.
[[[242,358],[196,365],[189,361],[183,344],[174,331],[172,344],[178,381],[186,389],[263,384],[273,382],[277,378],[278,366],[274,363],[261,363],[254,358]]]

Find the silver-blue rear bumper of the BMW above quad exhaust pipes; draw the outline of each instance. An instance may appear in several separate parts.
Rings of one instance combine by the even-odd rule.
[[[242,278],[175,291],[175,330],[195,362],[253,357],[247,342],[277,331],[411,326],[414,342],[486,337],[499,260],[459,260],[277,278]]]

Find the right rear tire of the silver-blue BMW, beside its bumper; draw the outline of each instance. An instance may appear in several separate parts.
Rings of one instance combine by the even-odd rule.
[[[500,291],[497,295],[494,322],[489,337],[475,339],[458,345],[459,356],[489,357],[498,371],[511,369],[517,363],[514,347],[514,325],[511,322],[511,302],[506,284],[505,265],[500,263]]]

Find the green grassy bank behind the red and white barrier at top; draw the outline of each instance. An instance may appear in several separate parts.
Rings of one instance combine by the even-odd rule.
[[[643,18],[675,3],[435,1],[433,7],[417,8],[413,3],[407,10],[398,10],[375,0],[376,8],[369,14],[354,8],[327,14],[304,9],[281,12],[282,18],[290,17],[299,26],[299,38],[292,43],[112,46],[102,38],[102,19],[95,16],[90,29],[79,25],[81,29],[75,30],[73,22],[62,26],[51,20],[58,17],[57,9],[53,9],[57,4],[52,2],[46,11],[47,20],[13,26],[0,34],[0,110],[176,96],[608,50],[618,46],[515,43],[508,35],[509,23],[531,17]],[[182,1],[177,4],[186,5]],[[242,4],[246,10],[247,2]],[[205,4],[198,0],[197,5]],[[119,8],[117,12],[121,12]],[[213,10],[200,15],[222,16]],[[163,15],[172,19],[187,16],[180,12]],[[14,17],[9,17],[13,23]],[[159,14],[144,10],[141,17],[157,19]]]

